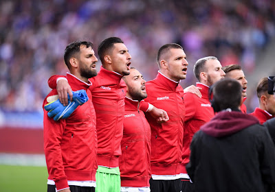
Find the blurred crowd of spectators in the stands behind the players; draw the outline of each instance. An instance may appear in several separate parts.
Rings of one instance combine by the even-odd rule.
[[[186,87],[196,82],[193,64],[204,56],[252,73],[257,53],[275,36],[272,0],[3,0],[0,9],[4,111],[42,110],[47,79],[68,71],[63,52],[74,40],[90,40],[97,51],[104,38],[122,38],[147,81],[157,74],[159,47],[178,43],[189,62]]]

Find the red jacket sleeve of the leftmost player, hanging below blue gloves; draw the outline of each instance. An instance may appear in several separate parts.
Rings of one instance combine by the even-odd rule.
[[[45,104],[47,104],[46,99],[43,106],[45,106]],[[47,117],[47,111],[44,109],[43,125],[44,152],[49,178],[54,180],[57,190],[69,188],[61,154],[61,141],[66,121],[65,119],[54,121],[54,119]]]

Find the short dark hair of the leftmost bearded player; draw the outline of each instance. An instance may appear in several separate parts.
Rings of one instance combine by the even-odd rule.
[[[74,41],[72,43],[69,43],[64,51],[64,61],[67,67],[70,69],[71,64],[69,63],[69,59],[72,57],[75,57],[77,53],[80,52],[80,45],[86,45],[86,47],[91,47],[91,49],[94,49],[93,43],[89,41]]]

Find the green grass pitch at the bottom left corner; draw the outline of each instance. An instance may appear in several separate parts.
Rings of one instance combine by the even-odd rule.
[[[47,191],[47,167],[0,165],[0,191]]]

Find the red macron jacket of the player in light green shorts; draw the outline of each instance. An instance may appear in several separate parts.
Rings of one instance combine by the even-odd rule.
[[[50,77],[50,88],[56,88],[56,80],[61,75]],[[96,129],[98,131],[98,165],[118,167],[121,155],[120,142],[123,134],[124,98],[126,84],[122,75],[100,67],[98,75],[89,79],[92,85],[93,104],[96,110]],[[148,104],[143,108],[148,108]],[[145,107],[144,107],[145,106]]]

